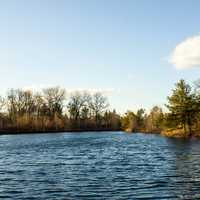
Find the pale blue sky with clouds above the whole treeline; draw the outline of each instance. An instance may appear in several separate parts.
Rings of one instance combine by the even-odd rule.
[[[200,78],[199,0],[0,0],[0,92],[102,91],[118,112]]]

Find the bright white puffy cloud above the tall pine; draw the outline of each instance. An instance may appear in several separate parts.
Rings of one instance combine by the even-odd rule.
[[[179,43],[171,54],[170,63],[177,69],[200,67],[200,35]]]

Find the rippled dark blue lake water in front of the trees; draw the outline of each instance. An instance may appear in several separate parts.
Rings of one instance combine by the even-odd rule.
[[[200,199],[200,140],[123,132],[0,136],[0,199]]]

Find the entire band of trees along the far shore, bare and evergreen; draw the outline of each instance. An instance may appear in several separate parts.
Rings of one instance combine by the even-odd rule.
[[[165,112],[154,106],[120,116],[109,110],[108,99],[100,92],[74,92],[65,89],[42,91],[10,89],[0,98],[0,132],[59,132],[125,130],[161,133],[167,136],[200,135],[200,82],[193,87],[180,80],[167,97]]]

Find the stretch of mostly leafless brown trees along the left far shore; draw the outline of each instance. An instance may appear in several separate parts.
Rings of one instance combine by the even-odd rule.
[[[66,98],[60,87],[10,89],[0,98],[1,132],[119,130],[120,116],[108,109],[100,92],[74,92]]]

